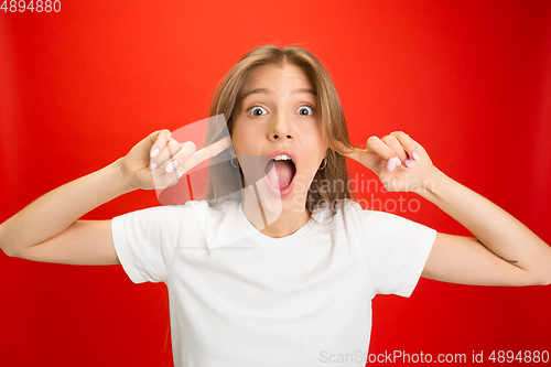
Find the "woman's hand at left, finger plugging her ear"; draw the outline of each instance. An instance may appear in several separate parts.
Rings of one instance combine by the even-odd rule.
[[[195,143],[177,142],[168,129],[158,130],[137,143],[121,159],[121,174],[132,188],[166,188],[187,171],[231,145],[230,137],[196,150]]]

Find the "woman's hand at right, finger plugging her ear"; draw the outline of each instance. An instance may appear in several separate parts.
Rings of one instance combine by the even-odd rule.
[[[366,149],[349,149],[334,140],[337,152],[361,163],[392,192],[420,192],[429,185],[433,164],[421,144],[402,131],[367,139]]]

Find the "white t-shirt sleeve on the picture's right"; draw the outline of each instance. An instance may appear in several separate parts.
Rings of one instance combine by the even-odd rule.
[[[364,255],[377,294],[410,296],[436,230],[398,215],[361,211]]]

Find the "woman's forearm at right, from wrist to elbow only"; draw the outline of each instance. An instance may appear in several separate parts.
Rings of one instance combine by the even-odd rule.
[[[498,257],[534,274],[549,273],[551,248],[510,214],[433,168],[417,193],[437,205]]]

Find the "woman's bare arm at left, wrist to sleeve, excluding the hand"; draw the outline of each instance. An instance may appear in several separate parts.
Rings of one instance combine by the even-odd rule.
[[[36,253],[35,258],[29,258],[47,262],[71,262],[71,258],[67,257],[63,259],[65,261],[55,261],[54,252],[56,251],[50,245],[55,242],[58,250],[61,242],[67,244],[67,246],[72,242],[71,246],[79,247],[78,237],[82,237],[83,242],[94,240],[94,233],[100,231],[100,228],[104,227],[104,240],[100,241],[104,245],[99,246],[101,255],[96,260],[117,263],[115,249],[109,250],[107,247],[109,244],[105,242],[106,235],[110,235],[110,231],[106,233],[105,230],[107,223],[101,226],[97,220],[84,220],[80,224],[76,222],[95,207],[132,190],[121,174],[121,160],[119,159],[97,172],[51,191],[2,223],[0,225],[0,247],[2,250],[8,256],[25,257],[28,253],[40,252],[34,251],[34,246],[47,242],[45,247],[50,247],[48,253]],[[71,229],[67,229],[69,227]],[[65,230],[67,233],[58,236]],[[78,237],[75,238],[75,235]],[[57,238],[52,240],[56,236]],[[73,253],[72,258],[75,261],[95,261],[90,250],[86,251],[85,248],[80,248],[82,251],[74,251],[74,247],[73,252],[76,253]],[[65,256],[71,255],[69,248],[61,250],[60,252],[65,253]]]

